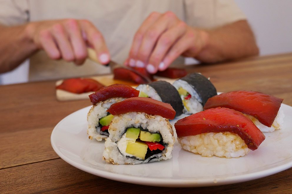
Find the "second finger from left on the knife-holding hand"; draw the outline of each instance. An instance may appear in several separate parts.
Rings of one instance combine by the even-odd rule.
[[[68,39],[68,34],[61,24],[55,24],[52,27],[52,34],[61,51],[62,58],[66,61],[74,61],[74,54]]]

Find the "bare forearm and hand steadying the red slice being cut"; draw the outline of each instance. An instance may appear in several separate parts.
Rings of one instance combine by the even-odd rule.
[[[153,12],[135,34],[126,63],[155,73],[180,55],[215,63],[257,54],[255,38],[245,20],[205,30],[188,26],[170,11]]]

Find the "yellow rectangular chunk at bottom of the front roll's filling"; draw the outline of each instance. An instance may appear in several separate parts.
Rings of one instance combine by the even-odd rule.
[[[128,141],[126,153],[132,154],[137,158],[145,159],[145,155],[147,152],[147,144],[140,142],[140,141]]]

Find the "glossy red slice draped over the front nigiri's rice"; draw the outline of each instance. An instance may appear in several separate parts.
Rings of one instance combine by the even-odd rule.
[[[264,141],[264,134],[241,112],[228,108],[212,108],[178,120],[175,123],[178,137],[208,132],[231,132],[245,141],[251,150],[258,149]]]

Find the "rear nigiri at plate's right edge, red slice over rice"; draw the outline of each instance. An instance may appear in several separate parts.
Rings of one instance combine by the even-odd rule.
[[[204,109],[226,107],[244,113],[262,132],[281,129],[284,112],[279,110],[283,99],[261,92],[233,91],[211,97]]]

